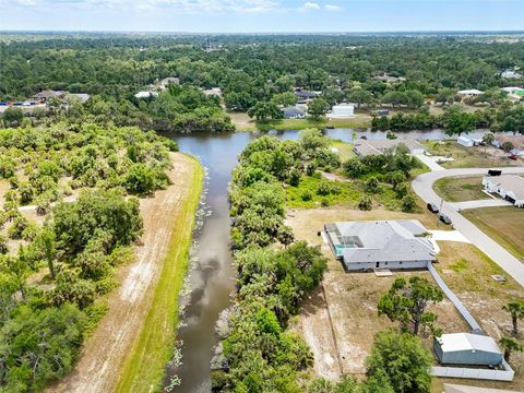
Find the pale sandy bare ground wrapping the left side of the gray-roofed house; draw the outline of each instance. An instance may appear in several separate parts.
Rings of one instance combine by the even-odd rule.
[[[401,276],[408,278],[418,275],[432,282],[427,271],[393,272],[389,277],[377,277],[374,273],[346,273],[317,231],[322,229],[323,224],[335,221],[401,218],[420,219],[428,227],[437,225],[433,216],[426,213],[360,212],[344,209],[288,212],[287,224],[294,229],[295,236],[310,245],[320,246],[329,258],[322,289],[306,300],[298,323],[314,355],[313,373],[327,379],[336,379],[341,374],[364,377],[365,360],[371,352],[374,335],[396,326],[386,317],[378,315],[379,298],[390,289],[394,279]],[[467,331],[467,324],[448,299],[432,308],[445,332]],[[425,342],[430,346],[431,337],[428,335]]]

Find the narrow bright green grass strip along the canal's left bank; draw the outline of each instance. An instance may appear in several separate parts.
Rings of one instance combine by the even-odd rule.
[[[176,219],[160,277],[142,331],[133,343],[120,373],[116,392],[158,392],[170,358],[178,324],[178,295],[188,269],[194,214],[202,191],[202,166],[194,160],[191,193]]]

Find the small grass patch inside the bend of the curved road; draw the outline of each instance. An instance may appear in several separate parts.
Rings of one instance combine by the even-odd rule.
[[[481,176],[442,178],[434,182],[433,189],[450,202],[489,199],[483,191]]]

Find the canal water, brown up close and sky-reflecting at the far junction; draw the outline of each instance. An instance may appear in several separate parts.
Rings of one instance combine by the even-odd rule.
[[[269,131],[281,139],[297,139],[298,131]],[[228,307],[235,288],[235,269],[229,250],[229,204],[227,187],[231,171],[237,165],[237,156],[246,144],[263,133],[191,133],[167,134],[177,141],[180,151],[201,160],[207,168],[205,203],[200,217],[202,226],[194,234],[194,258],[189,271],[188,295],[183,324],[177,333],[182,344],[182,364],[179,367],[168,366],[166,385],[172,376],[181,379],[181,385],[174,392],[207,393],[211,391],[210,361],[213,347],[217,343],[215,323],[218,314]],[[330,138],[350,142],[353,130],[325,130]],[[368,139],[385,139],[384,132],[357,132],[356,136]],[[410,131],[397,134],[400,140],[442,140],[445,134],[441,130]],[[475,134],[473,134],[475,136]],[[147,365],[143,365],[147,367]]]

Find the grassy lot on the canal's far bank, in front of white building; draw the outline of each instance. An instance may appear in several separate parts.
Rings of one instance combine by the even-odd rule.
[[[245,112],[227,112],[238,131],[257,130],[301,130],[307,128],[369,128],[371,127],[371,116],[368,114],[356,114],[350,119],[321,119],[319,121],[306,119],[281,119],[267,121],[254,121]]]

